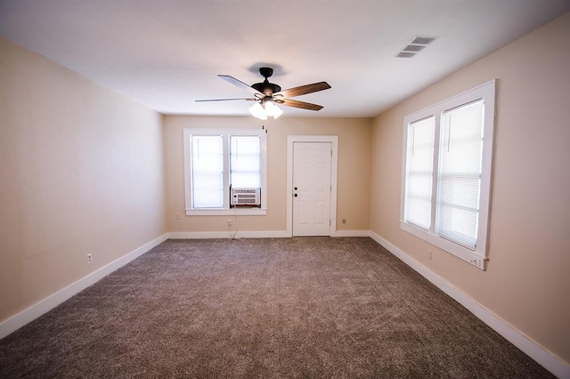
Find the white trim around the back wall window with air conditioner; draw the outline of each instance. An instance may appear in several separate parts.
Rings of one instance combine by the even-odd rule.
[[[191,207],[191,136],[192,135],[258,135],[261,138],[261,207],[259,208],[211,208]],[[184,128],[184,210],[187,216],[264,215],[267,214],[267,130],[266,129],[194,129]],[[224,151],[224,159],[229,159]],[[226,157],[227,156],[227,157]],[[227,165],[225,165],[227,167]],[[229,198],[229,185],[224,186],[224,198]],[[226,193],[227,192],[227,193]]]

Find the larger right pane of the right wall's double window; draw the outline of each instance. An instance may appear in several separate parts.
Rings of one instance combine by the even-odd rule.
[[[440,165],[438,232],[447,239],[476,248],[484,101],[444,112]]]

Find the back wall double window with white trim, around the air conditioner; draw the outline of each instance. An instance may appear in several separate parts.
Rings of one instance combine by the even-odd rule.
[[[184,129],[187,215],[266,214],[266,133]],[[259,189],[261,206],[232,208],[230,189]]]

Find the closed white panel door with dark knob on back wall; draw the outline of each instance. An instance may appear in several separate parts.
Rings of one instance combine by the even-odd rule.
[[[293,236],[330,236],[330,142],[293,143]]]

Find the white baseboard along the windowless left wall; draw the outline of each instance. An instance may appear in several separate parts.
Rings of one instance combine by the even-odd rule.
[[[103,266],[99,270],[95,270],[91,274],[87,275],[85,278],[80,278],[77,282],[66,286],[55,294],[51,294],[44,300],[41,300],[34,305],[30,306],[26,310],[22,310],[20,313],[12,316],[10,319],[4,320],[0,323],[0,339],[4,338],[6,335],[10,335],[12,332],[20,329],[29,322],[42,316],[49,310],[53,310],[56,306],[60,305],[61,302],[69,300],[73,295],[78,294],[83,291],[88,286],[94,285],[96,282],[102,278],[109,275],[114,270],[118,270],[125,266],[126,263],[133,261],[142,254],[151,250],[152,247],[158,246],[167,240],[167,234],[163,234],[158,238],[154,238],[151,242],[148,242],[137,249],[133,250],[129,254],[126,254],[117,260],[110,262],[106,266]]]

